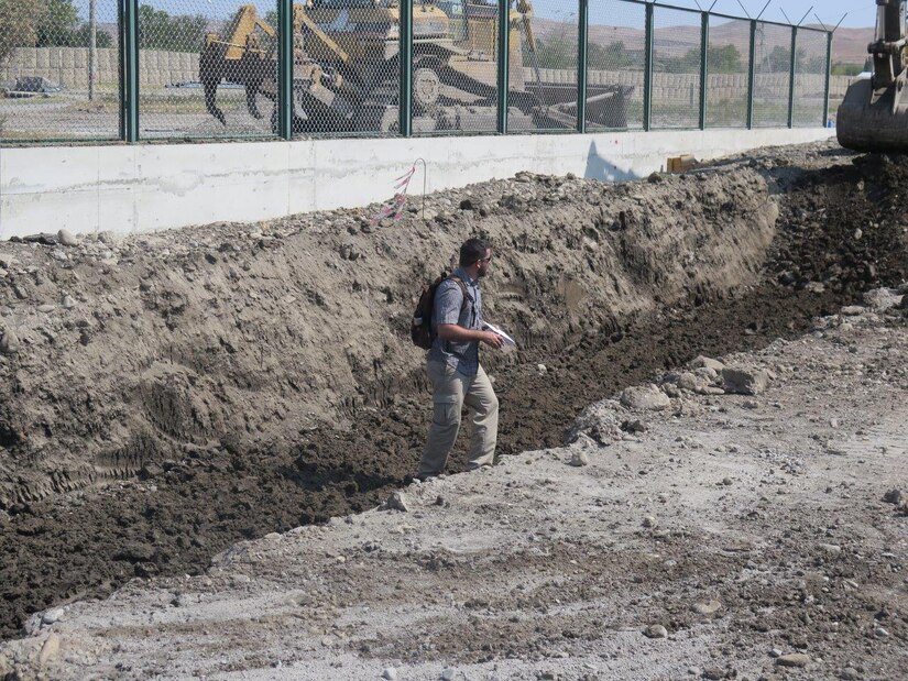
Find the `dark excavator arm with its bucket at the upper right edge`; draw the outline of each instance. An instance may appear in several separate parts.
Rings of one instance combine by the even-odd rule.
[[[873,75],[849,86],[836,116],[839,143],[860,152],[908,152],[905,0],[876,0]]]

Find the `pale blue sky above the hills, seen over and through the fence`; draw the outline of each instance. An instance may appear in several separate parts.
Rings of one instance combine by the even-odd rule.
[[[253,1],[260,8],[272,8],[273,0],[244,0]],[[298,0],[297,0],[298,1]],[[713,0],[657,0],[659,4],[670,4],[675,7],[697,9],[698,2],[702,9],[708,9]],[[96,0],[98,8],[98,20],[101,22],[117,21],[117,0]],[[241,0],[140,0],[142,4],[151,4],[155,9],[166,10],[172,14],[206,14],[209,17],[226,17],[232,14],[242,3]],[[591,10],[595,12],[594,6],[600,4],[601,13],[606,0],[590,0]],[[766,0],[741,0],[751,17],[756,17],[766,3]],[[74,0],[74,4],[79,8],[83,17],[88,15],[88,0]],[[535,0],[534,6],[539,17],[555,18],[562,14],[566,9],[577,4],[577,0]],[[811,9],[813,8],[813,9]],[[769,7],[763,13],[763,19],[788,23],[783,14],[783,10],[792,22],[803,20],[806,24],[818,24],[817,17],[820,18],[830,29],[834,26],[843,14],[847,13],[842,26],[865,28],[873,26],[876,19],[876,3],[874,0],[772,0]],[[809,13],[808,13],[808,10]],[[606,10],[608,11],[608,10]],[[715,0],[714,12],[731,14],[734,17],[745,17],[739,0]]]

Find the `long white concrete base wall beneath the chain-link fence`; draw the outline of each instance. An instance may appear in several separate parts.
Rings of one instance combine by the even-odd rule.
[[[670,156],[709,160],[831,134],[810,128],[0,149],[0,239],[62,228],[124,234],[364,206],[391,198],[394,178],[416,158],[425,158],[434,191],[519,171],[633,179]],[[422,190],[420,166],[409,193]]]

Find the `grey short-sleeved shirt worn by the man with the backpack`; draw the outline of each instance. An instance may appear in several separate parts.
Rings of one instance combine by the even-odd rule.
[[[431,315],[431,330],[436,337],[428,359],[445,362],[464,376],[475,376],[479,371],[479,341],[442,341],[437,336],[438,326],[442,323],[456,323],[473,331],[482,329],[482,293],[479,290],[479,281],[470,278],[461,267],[455,270],[451,276],[463,282],[468,296],[464,300],[463,289],[457,282],[445,279],[438,285]]]

